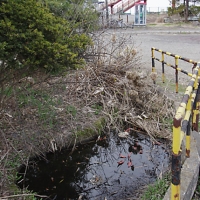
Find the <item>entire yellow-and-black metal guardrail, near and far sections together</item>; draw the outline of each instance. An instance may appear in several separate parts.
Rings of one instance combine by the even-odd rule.
[[[181,144],[183,138],[186,138],[186,157],[190,157],[190,135],[191,130],[198,131],[199,110],[200,110],[200,62],[182,58],[178,55],[171,54],[156,48],[152,51],[152,72],[155,72],[155,60],[162,62],[162,78],[164,81],[164,65],[168,65],[176,70],[176,92],[178,92],[178,71],[187,74],[191,80],[186,88],[183,99],[176,111],[173,120],[173,143],[172,143],[172,181],[171,181],[171,200],[180,200],[180,175],[181,175]],[[154,51],[162,54],[162,59],[155,58]],[[175,58],[175,66],[164,61],[164,54]],[[178,59],[193,63],[192,73],[188,73],[178,68]]]

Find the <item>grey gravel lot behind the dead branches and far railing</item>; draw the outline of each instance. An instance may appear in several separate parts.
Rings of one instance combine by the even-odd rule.
[[[168,51],[177,54],[181,57],[188,58],[194,61],[200,61],[200,27],[198,26],[180,26],[163,24],[152,27],[135,27],[127,30],[109,30],[116,35],[131,36],[130,44],[134,44],[138,53],[142,56],[142,67],[146,67],[147,71],[151,71],[151,47]],[[161,59],[161,53],[155,53],[157,58]],[[172,65],[175,65],[173,57],[165,55],[165,60]],[[192,64],[184,61],[179,61],[179,67],[188,72],[192,72]],[[156,69],[161,70],[161,63],[156,61]],[[174,70],[166,66],[166,75],[174,77]],[[179,79],[182,82],[188,80],[188,77],[179,73]]]

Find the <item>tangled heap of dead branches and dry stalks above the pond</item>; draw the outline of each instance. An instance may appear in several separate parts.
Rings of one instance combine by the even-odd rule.
[[[170,138],[173,101],[158,90],[141,69],[137,47],[131,37],[105,34],[94,37],[94,46],[87,54],[87,65],[68,76],[70,99],[92,112],[102,107],[107,127],[121,131],[128,124],[152,138]],[[86,109],[87,108],[87,109]]]

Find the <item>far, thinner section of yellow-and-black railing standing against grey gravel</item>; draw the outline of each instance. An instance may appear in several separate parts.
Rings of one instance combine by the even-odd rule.
[[[157,52],[160,52],[162,54],[162,58],[161,59],[158,59],[158,58],[155,58],[155,51]],[[166,51],[162,51],[160,49],[156,49],[154,47],[151,48],[151,53],[152,53],[152,72],[156,72],[156,69],[155,69],[155,60],[159,61],[162,63],[162,81],[163,83],[165,82],[165,68],[164,66],[167,65],[169,67],[172,67],[175,69],[175,79],[176,79],[176,93],[178,93],[178,71],[192,77],[192,73],[189,73],[181,68],[178,67],[178,60],[183,60],[185,62],[188,62],[188,63],[192,63],[193,64],[193,68],[197,65],[197,62],[196,61],[193,61],[191,59],[188,59],[188,58],[183,58],[179,55],[176,55],[176,54],[172,54],[170,52],[166,52]],[[168,56],[172,56],[175,58],[175,65],[171,65],[167,62],[164,61],[164,55],[168,55]],[[154,80],[154,83],[155,83],[155,80]]]

